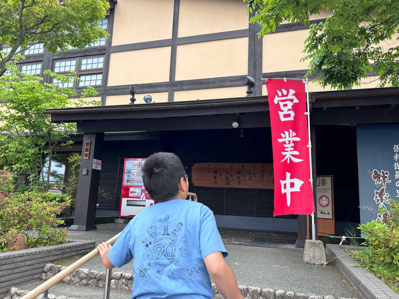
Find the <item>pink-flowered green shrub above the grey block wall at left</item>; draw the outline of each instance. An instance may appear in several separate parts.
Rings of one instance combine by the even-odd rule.
[[[69,204],[69,199],[39,191],[13,191],[10,175],[0,170],[0,251],[7,250],[13,234],[29,233],[27,248],[66,243],[66,231],[54,229],[63,223],[56,216]],[[49,200],[50,199],[50,200]]]

